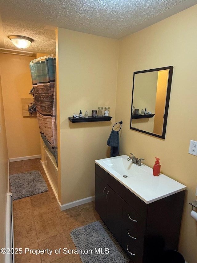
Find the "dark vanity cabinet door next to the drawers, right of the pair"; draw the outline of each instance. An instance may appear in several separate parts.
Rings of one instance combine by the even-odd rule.
[[[123,199],[108,186],[107,188],[107,227],[121,244]]]

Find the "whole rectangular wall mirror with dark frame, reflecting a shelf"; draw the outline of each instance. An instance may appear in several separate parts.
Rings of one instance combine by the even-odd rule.
[[[130,129],[165,139],[172,72],[173,66],[134,72]]]

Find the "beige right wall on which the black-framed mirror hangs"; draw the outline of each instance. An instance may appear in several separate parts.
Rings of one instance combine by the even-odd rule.
[[[159,157],[162,173],[187,186],[179,251],[188,263],[197,258],[197,222],[188,204],[197,186],[197,157],[188,154],[190,139],[197,141],[196,14],[197,5],[121,40],[115,115],[123,120],[120,154],[132,152],[151,167]],[[129,127],[133,72],[166,66],[174,71],[163,140]]]

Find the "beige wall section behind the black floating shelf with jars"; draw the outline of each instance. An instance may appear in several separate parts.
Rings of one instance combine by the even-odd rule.
[[[107,139],[115,121],[119,41],[62,28],[57,33],[58,170],[64,204],[94,195],[94,161],[109,157]],[[91,116],[98,106],[110,107],[112,121],[71,123],[68,119],[80,109]]]

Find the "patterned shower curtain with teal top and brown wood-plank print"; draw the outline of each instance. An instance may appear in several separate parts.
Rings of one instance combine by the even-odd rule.
[[[58,163],[57,124],[55,119],[56,58],[31,62],[30,71],[41,137]]]

